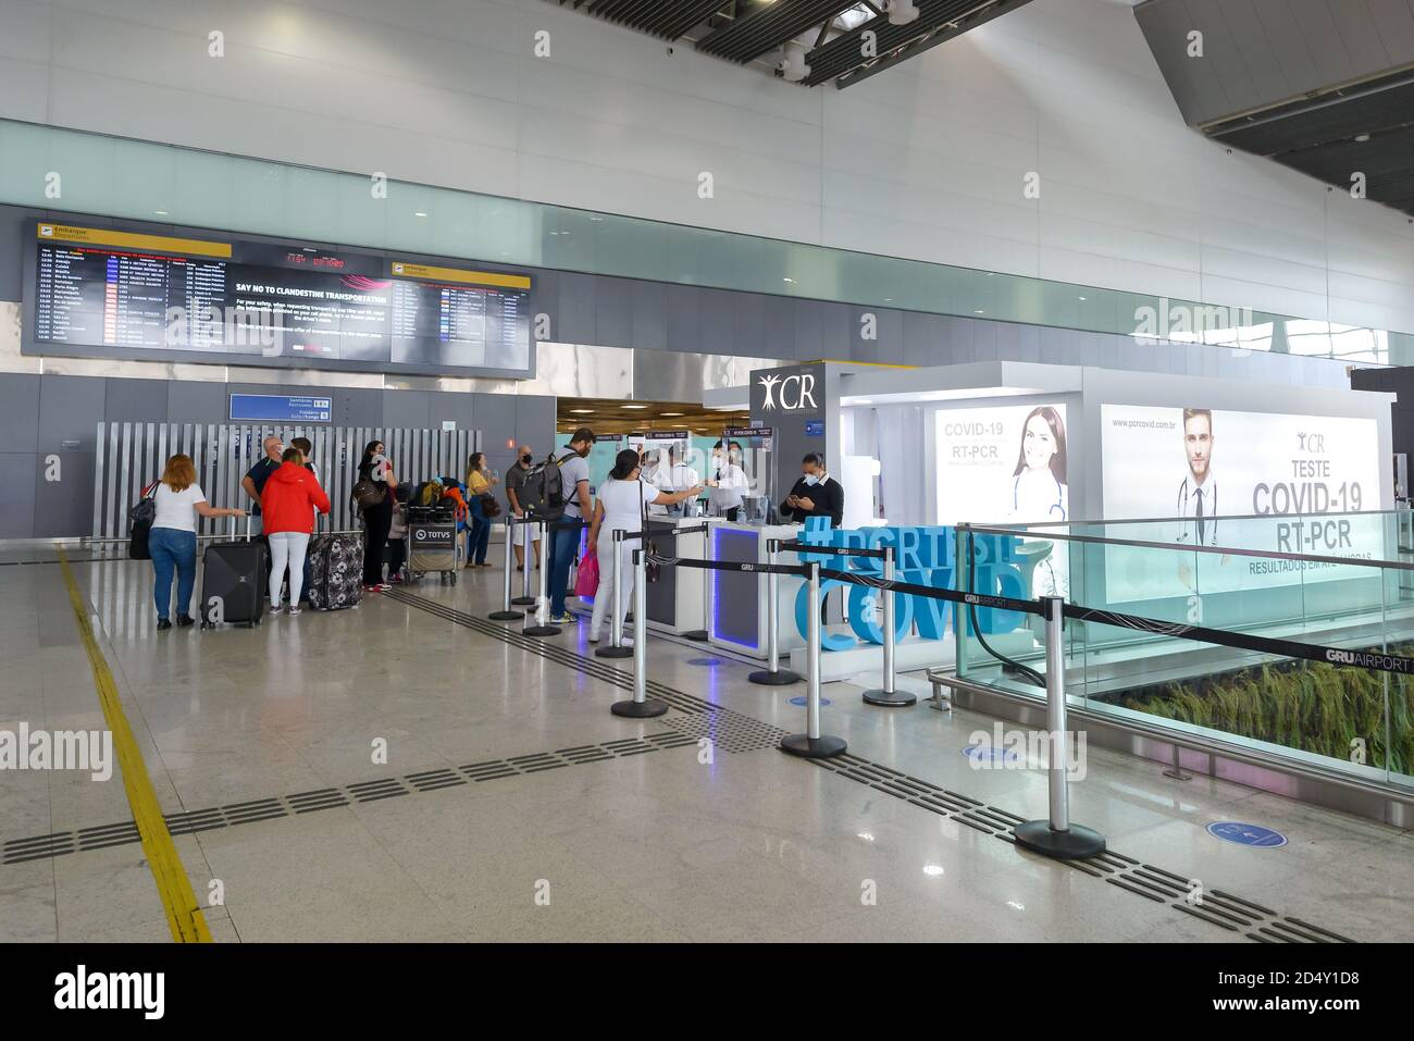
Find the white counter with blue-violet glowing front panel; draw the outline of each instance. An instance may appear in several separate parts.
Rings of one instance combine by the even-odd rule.
[[[769,539],[785,542],[799,535],[800,528],[796,525],[751,528],[721,522],[711,529],[708,556],[713,560],[764,564],[768,563],[766,542]],[[782,553],[781,563],[796,563],[796,554]],[[765,661],[766,576],[752,571],[707,571],[706,574],[710,583],[707,634],[711,642],[728,651]],[[795,622],[795,603],[800,584],[802,580],[795,576],[778,576],[779,645],[783,655],[803,644]]]

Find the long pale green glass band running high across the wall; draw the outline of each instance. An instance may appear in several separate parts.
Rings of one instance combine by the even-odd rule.
[[[1414,364],[1408,332],[389,178],[386,192],[370,191],[370,174],[0,120],[0,204],[1161,342]]]

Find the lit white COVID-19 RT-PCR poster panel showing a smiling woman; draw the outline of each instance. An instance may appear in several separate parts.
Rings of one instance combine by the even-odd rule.
[[[937,522],[1055,523],[1070,519],[1070,453],[1065,405],[939,409]],[[1024,539],[1028,595],[1068,595],[1063,543]]]

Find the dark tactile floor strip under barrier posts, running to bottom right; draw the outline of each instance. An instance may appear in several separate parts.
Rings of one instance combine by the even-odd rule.
[[[976,832],[1001,839],[1012,846],[1017,839],[1012,829],[1024,822],[1015,813],[1010,813],[997,806],[922,781],[908,774],[901,774],[891,767],[885,767],[870,760],[846,752],[831,760],[810,760],[822,769],[840,774],[858,784],[868,785],[875,791],[892,795],[895,799],[912,803],[919,809],[926,809],[942,818],[949,818]],[[1076,871],[1103,878],[1110,885],[1151,900],[1155,904],[1165,904],[1175,911],[1199,918],[1210,925],[1216,925],[1229,932],[1241,934],[1249,939],[1263,943],[1355,943],[1349,936],[1322,929],[1299,918],[1281,915],[1261,904],[1234,897],[1222,890],[1208,890],[1198,904],[1191,904],[1189,880],[1184,876],[1165,871],[1152,864],[1144,864],[1123,853],[1106,850],[1097,857],[1087,860],[1058,860]]]

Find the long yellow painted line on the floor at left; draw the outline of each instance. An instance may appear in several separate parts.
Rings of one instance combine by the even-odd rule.
[[[93,670],[93,686],[98,687],[98,700],[103,706],[103,719],[113,733],[113,748],[117,751],[117,764],[123,771],[127,805],[133,808],[133,820],[143,839],[143,853],[147,854],[147,864],[157,883],[157,895],[161,897],[163,908],[167,911],[167,925],[171,926],[173,939],[178,943],[211,943],[206,918],[202,915],[197,894],[187,878],[187,868],[177,853],[171,832],[167,830],[167,820],[163,819],[157,792],[147,775],[147,764],[143,762],[143,754],[137,750],[137,741],[133,740],[133,730],[127,726],[123,702],[117,696],[117,683],[113,682],[113,673],[93,638],[88,604],[79,593],[74,571],[69,570],[69,559],[62,549],[59,549],[59,566],[64,569],[64,583],[69,587],[74,618],[79,624],[83,649],[88,652],[89,666]]]

